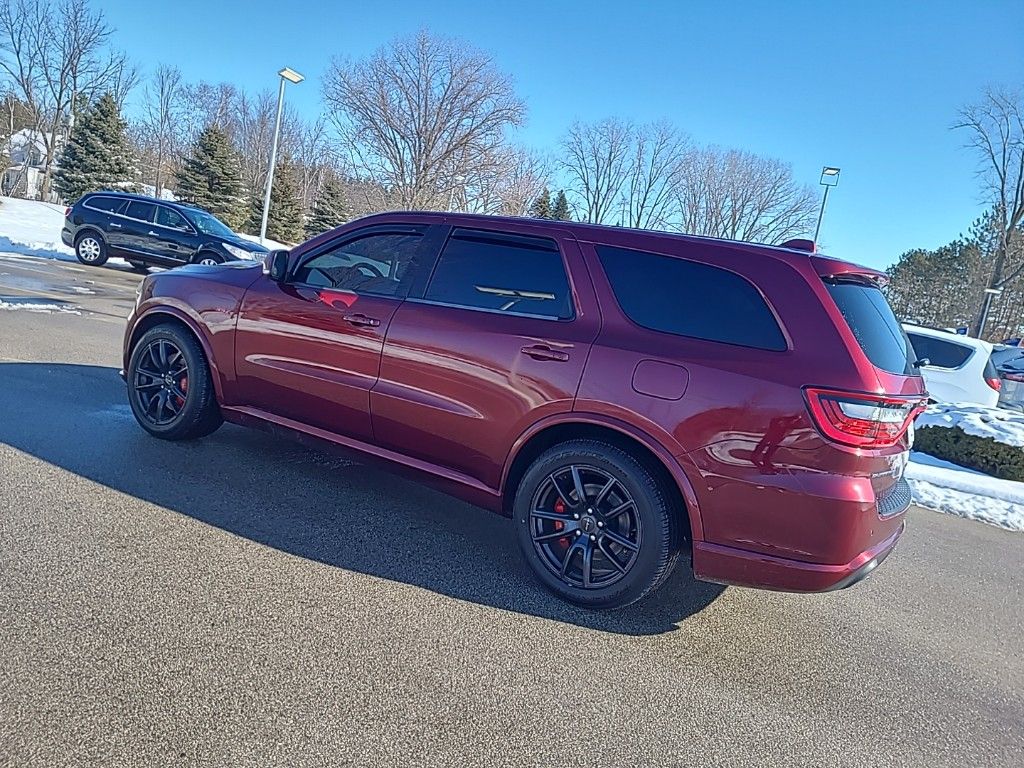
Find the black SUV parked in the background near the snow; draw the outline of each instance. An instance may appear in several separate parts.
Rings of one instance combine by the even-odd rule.
[[[90,266],[110,256],[144,269],[254,260],[267,253],[202,208],[113,191],[85,195],[69,208],[60,239]]]

